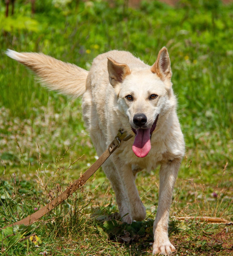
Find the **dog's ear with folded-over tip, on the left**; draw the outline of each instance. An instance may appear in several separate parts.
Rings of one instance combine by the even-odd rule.
[[[108,59],[108,74],[110,84],[115,87],[117,83],[122,83],[124,78],[131,74],[130,68],[127,64],[119,63],[111,57]]]

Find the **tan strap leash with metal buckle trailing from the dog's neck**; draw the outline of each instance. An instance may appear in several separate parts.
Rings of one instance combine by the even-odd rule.
[[[118,131],[117,136],[108,146],[107,150],[104,151],[104,153],[97,159],[97,161],[94,162],[94,164],[83,175],[81,175],[79,179],[77,179],[73,184],[70,184],[70,186],[64,192],[62,192],[58,197],[56,197],[54,200],[49,202],[46,206],[44,206],[40,210],[6,227],[12,227],[12,226],[21,225],[21,224],[24,224],[25,226],[27,226],[32,224],[42,216],[46,215],[49,211],[57,207],[64,200],[66,200],[70,195],[72,195],[77,189],[82,187],[84,183],[91,177],[91,175],[94,174],[97,171],[97,169],[99,169],[99,167],[107,160],[107,158],[121,145],[121,140],[128,141],[132,137],[133,135],[127,136],[126,132],[123,132],[120,129]]]

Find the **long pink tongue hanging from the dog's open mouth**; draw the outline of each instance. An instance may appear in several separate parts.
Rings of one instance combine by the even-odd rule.
[[[150,128],[137,129],[133,143],[133,152],[137,157],[145,157],[151,149]]]

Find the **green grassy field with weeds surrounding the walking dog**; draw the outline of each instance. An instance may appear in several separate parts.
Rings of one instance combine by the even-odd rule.
[[[94,57],[112,49],[152,65],[166,46],[186,142],[170,212],[174,255],[233,255],[232,225],[177,219],[233,222],[233,5],[182,0],[173,8],[142,1],[131,9],[127,1],[112,2],[37,0],[31,15],[30,2],[20,0],[7,18],[0,2],[1,227],[47,204],[58,186],[65,190],[96,160],[81,98],[47,91],[4,51],[43,52],[88,70]],[[100,168],[83,191],[39,222],[2,230],[0,254],[151,255],[158,169],[139,173],[136,184],[145,221],[121,223]]]

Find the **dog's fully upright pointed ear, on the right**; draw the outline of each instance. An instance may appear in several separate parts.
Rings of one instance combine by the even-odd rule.
[[[168,55],[167,48],[164,46],[158,53],[158,58],[151,67],[151,71],[156,73],[159,78],[171,79],[172,70],[171,70],[171,62]]]

